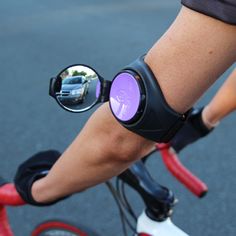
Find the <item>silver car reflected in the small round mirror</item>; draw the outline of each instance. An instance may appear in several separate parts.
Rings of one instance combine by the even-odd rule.
[[[73,76],[62,80],[58,99],[63,104],[79,104],[88,93],[89,83],[84,76]]]

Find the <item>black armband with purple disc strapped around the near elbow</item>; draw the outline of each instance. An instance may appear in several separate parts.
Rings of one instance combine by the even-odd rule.
[[[155,142],[168,142],[183,126],[189,111],[174,111],[144,56],[126,66],[113,79],[110,108],[128,130]]]

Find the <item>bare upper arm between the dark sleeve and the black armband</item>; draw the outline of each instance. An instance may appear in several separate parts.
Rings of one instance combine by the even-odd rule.
[[[236,26],[182,8],[146,57],[172,108],[188,110],[234,63],[235,39]]]

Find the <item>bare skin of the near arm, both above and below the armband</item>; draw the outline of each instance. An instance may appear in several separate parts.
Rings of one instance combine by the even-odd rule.
[[[235,38],[235,26],[182,7],[145,58],[174,110],[187,111],[236,60]],[[153,145],[122,127],[104,104],[49,174],[33,184],[32,196],[37,202],[50,202],[104,182]]]

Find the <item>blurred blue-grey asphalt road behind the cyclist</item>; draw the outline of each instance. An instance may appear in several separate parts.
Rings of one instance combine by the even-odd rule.
[[[173,0],[1,1],[0,174],[11,180],[31,154],[49,148],[63,151],[91,115],[59,108],[48,96],[50,77],[70,64],[84,63],[111,79],[152,46],[179,9]],[[229,72],[200,104],[210,100]],[[204,199],[177,183],[158,156],[148,162],[153,176],[180,200],[173,220],[190,235],[236,235],[235,118],[226,118],[210,137],[181,154],[208,184]],[[140,198],[132,191],[130,197],[140,212]],[[11,208],[9,214],[16,236],[29,235],[35,225],[51,218],[87,225],[104,236],[121,235],[118,210],[104,185],[53,207]]]

